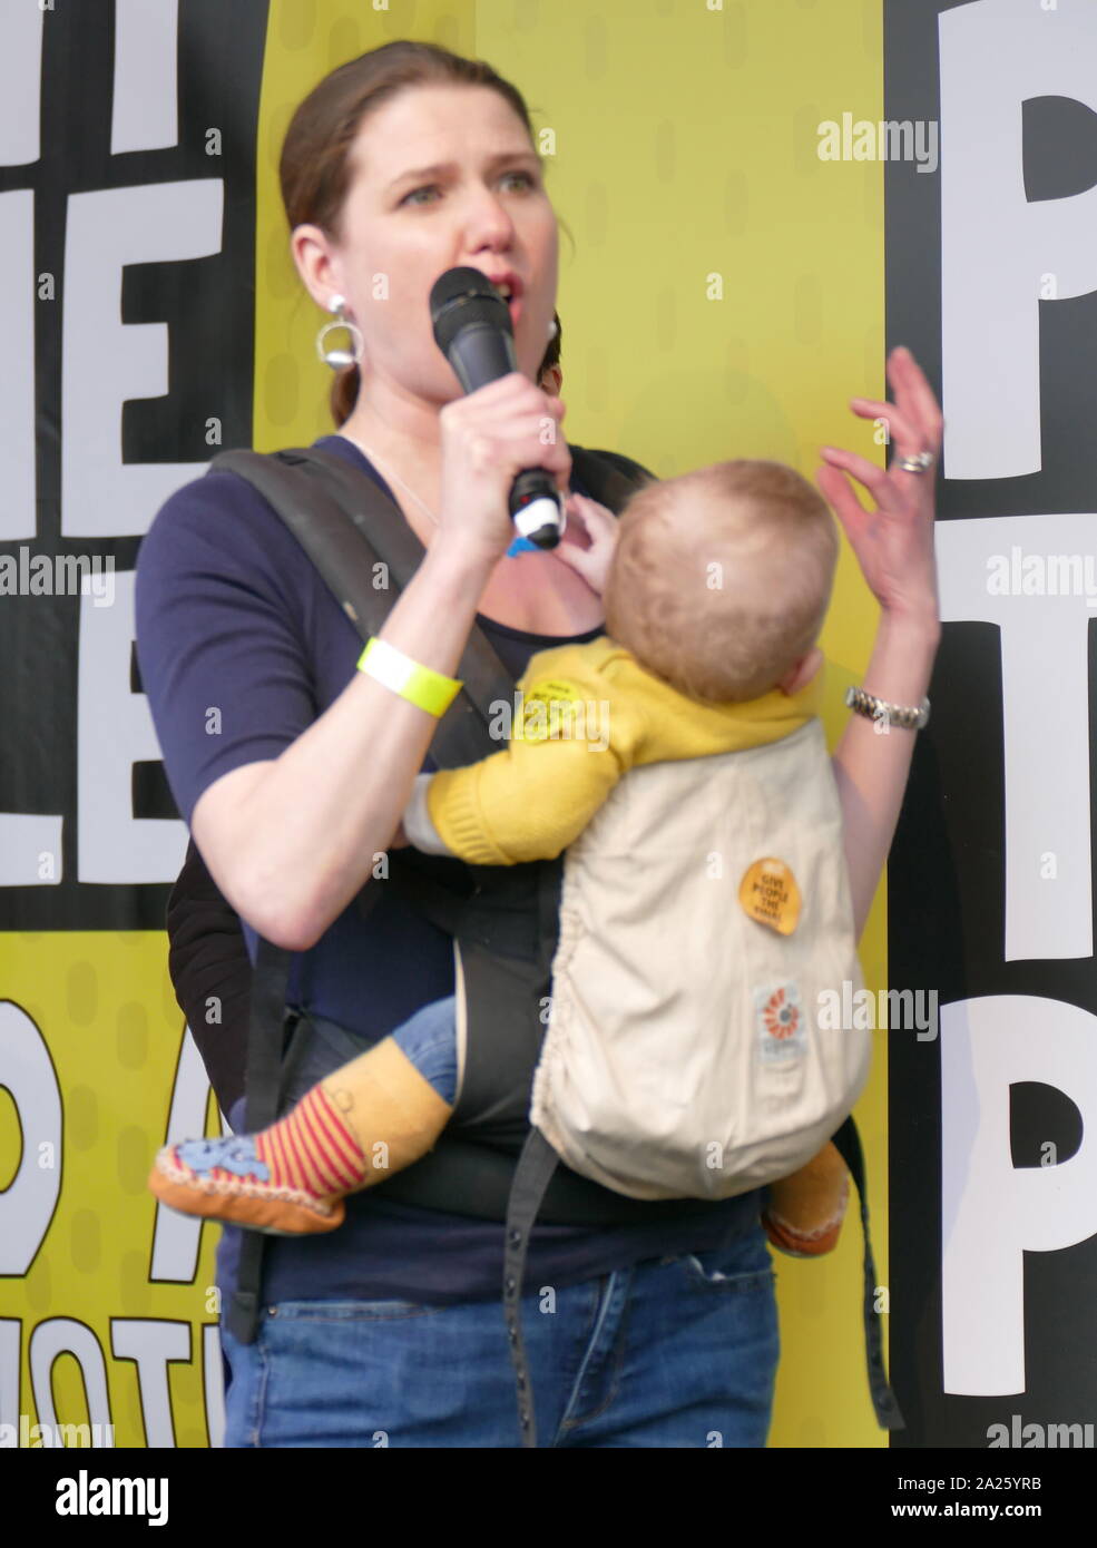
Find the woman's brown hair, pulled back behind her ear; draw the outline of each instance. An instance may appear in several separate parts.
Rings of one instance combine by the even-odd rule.
[[[362,119],[398,91],[425,85],[490,87],[514,108],[532,142],[525,98],[484,60],[464,59],[436,43],[385,43],[333,70],[294,113],[279,163],[282,203],[291,231],[303,224],[319,226],[334,241],[339,240],[351,181],[350,150]],[[337,373],[331,385],[336,426],[350,418],[359,384],[357,365]]]

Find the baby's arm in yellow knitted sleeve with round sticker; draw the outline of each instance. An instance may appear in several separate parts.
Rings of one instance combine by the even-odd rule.
[[[639,712],[597,673],[546,675],[518,687],[523,714],[500,752],[421,774],[404,811],[416,848],[473,865],[554,859],[583,831],[641,738]]]

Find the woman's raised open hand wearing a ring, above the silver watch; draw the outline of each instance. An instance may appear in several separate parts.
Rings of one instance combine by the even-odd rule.
[[[938,627],[935,466],[921,474],[908,472],[899,466],[899,460],[930,452],[936,464],[944,430],[941,406],[907,348],[893,350],[888,356],[888,382],[894,402],[853,398],[851,409],[862,420],[887,423],[894,452],[891,466],[885,471],[856,452],[825,446],[825,466],[815,477],[883,611],[891,618]],[[871,494],[874,511],[866,511],[860,503],[851,478]]]

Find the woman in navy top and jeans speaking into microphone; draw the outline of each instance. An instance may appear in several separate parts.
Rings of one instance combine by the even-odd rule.
[[[535,385],[557,220],[520,93],[481,62],[391,43],[309,93],[280,172],[300,279],[354,345],[339,432],[317,446],[379,483],[425,548],[381,639],[419,676],[453,678],[475,625],[517,680],[534,652],[596,638],[602,601],[583,571],[588,540],[607,540],[597,508],[572,497],[579,522],[557,550],[506,554],[517,474],[543,467],[562,492],[571,474],[563,433],[545,433],[563,404]],[[509,297],[518,362],[467,396],[427,307],[458,266]],[[890,379],[894,404],[854,412],[888,421],[891,471],[826,450],[818,480],[880,602],[863,687],[916,706],[939,633],[925,472],[941,416],[905,351]],[[365,1046],[452,994],[447,937],[384,889],[368,918],[354,906],[438,720],[356,669],[361,639],[271,506],[229,472],[178,491],[142,543],[136,608],[176,803],[249,944],[296,954],[291,1002]],[[913,743],[876,731],[853,715],[834,757],[857,930]],[[778,1337],[760,1198],[685,1203],[534,1231],[525,1325],[542,1444],[764,1444]],[[218,1254],[226,1297],[238,1235],[226,1229]],[[257,1339],[223,1330],[226,1444],[520,1444],[501,1249],[498,1221],[399,1204],[384,1186],[350,1198],[339,1231],[272,1241]]]

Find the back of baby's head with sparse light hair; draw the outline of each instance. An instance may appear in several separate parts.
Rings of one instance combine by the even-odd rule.
[[[758,698],[815,644],[837,554],[829,506],[783,463],[648,483],[617,522],[607,633],[690,698]]]

